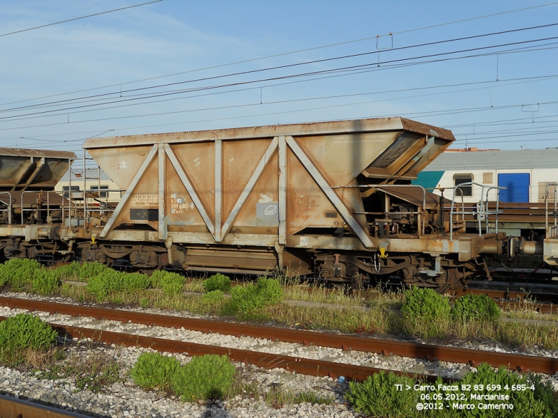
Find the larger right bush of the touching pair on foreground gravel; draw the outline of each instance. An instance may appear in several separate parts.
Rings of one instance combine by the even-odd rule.
[[[194,357],[172,375],[172,389],[182,401],[223,398],[230,389],[236,369],[226,355]]]

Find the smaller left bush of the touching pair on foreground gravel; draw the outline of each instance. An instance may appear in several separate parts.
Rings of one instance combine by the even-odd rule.
[[[172,376],[179,367],[180,363],[174,357],[159,353],[143,353],[130,371],[130,376],[143,389],[168,392]]]

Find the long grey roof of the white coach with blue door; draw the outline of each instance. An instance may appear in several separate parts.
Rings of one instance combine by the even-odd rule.
[[[446,151],[423,171],[557,168],[558,148],[545,148],[543,150]]]

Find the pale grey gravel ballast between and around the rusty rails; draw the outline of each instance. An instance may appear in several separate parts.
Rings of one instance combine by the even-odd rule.
[[[25,299],[50,300],[60,303],[74,303],[66,298],[38,297],[36,295],[22,295],[3,293],[9,297],[23,297]],[[155,314],[172,314],[156,309],[129,309],[131,311],[144,311]],[[10,309],[0,307],[0,315],[13,316],[23,309]],[[236,337],[223,334],[204,334],[190,330],[176,330],[174,328],[148,326],[133,323],[121,323],[111,320],[97,320],[95,318],[73,317],[49,312],[33,312],[43,320],[50,323],[71,325],[75,327],[88,327],[97,330],[112,332],[126,332],[152,336],[161,339],[174,339],[191,343],[210,344],[227,348],[254,350],[262,353],[273,353],[303,357],[308,359],[322,359],[330,362],[340,362],[359,366],[371,366],[379,369],[408,371],[419,374],[435,374],[447,378],[460,378],[472,369],[464,364],[449,362],[428,362],[423,359],[414,359],[400,356],[384,356],[376,353],[363,353],[359,351],[343,351],[336,348],[317,346],[305,347],[295,343],[270,341],[269,339],[256,339],[252,337]],[[177,316],[199,318],[184,313]],[[463,345],[461,345],[463,347]],[[497,344],[469,343],[464,348],[492,350],[497,352],[513,352],[504,350]],[[137,357],[144,353],[143,348],[121,348],[116,346],[101,347],[104,353],[116,359],[121,369],[122,381],[104,387],[100,393],[93,393],[89,389],[79,390],[73,379],[61,378],[60,380],[46,380],[41,378],[42,373],[21,373],[6,367],[0,367],[0,391],[10,396],[31,398],[44,403],[60,405],[67,410],[89,413],[98,417],[359,417],[360,415],[347,408],[345,405],[346,383],[338,384],[332,378],[317,378],[302,376],[296,373],[275,369],[272,371],[257,369],[255,366],[235,364],[237,371],[243,373],[243,378],[254,382],[259,389],[269,391],[273,387],[290,389],[294,393],[312,392],[321,398],[329,398],[331,403],[318,405],[301,403],[287,405],[285,408],[273,408],[263,398],[249,398],[236,396],[227,401],[210,403],[185,403],[172,396],[165,396],[160,392],[145,392],[136,387],[133,380],[128,377]],[[87,355],[83,350],[70,347],[73,355]],[[555,350],[531,350],[532,355],[558,357]],[[189,361],[185,355],[176,355],[182,363]],[[550,381],[555,391],[558,390],[558,374],[553,376],[543,375],[543,379]]]

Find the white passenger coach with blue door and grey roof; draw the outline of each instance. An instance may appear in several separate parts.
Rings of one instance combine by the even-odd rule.
[[[425,167],[413,184],[442,195],[455,204],[487,201],[488,229],[531,239],[545,235],[545,195],[554,206],[558,181],[558,148],[540,150],[446,150]],[[471,184],[472,183],[472,184]],[[457,192],[455,192],[457,190]],[[499,201],[498,207],[496,201]],[[449,208],[446,208],[449,210]],[[467,216],[466,216],[467,219]],[[467,229],[478,229],[478,217],[469,217]]]

